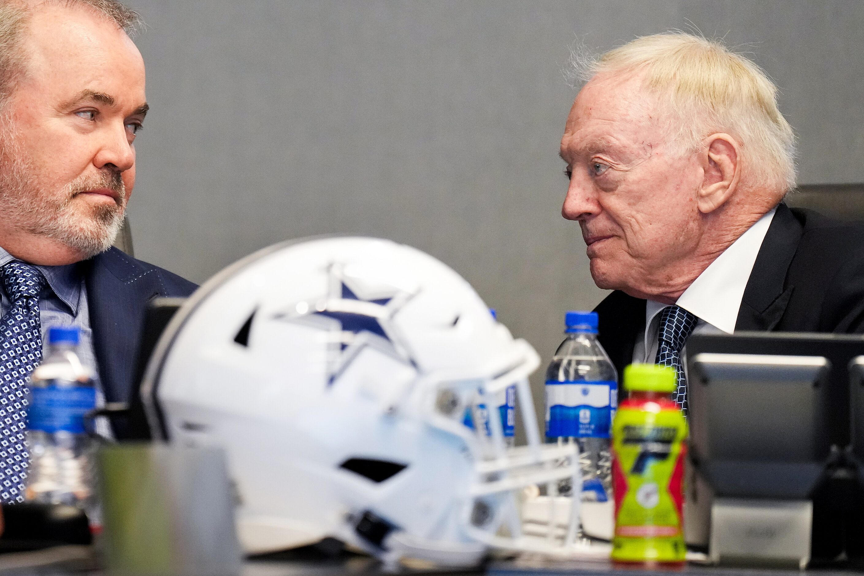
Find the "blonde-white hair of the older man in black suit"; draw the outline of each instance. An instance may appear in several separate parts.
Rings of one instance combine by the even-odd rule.
[[[778,88],[753,61],[721,42],[683,32],[642,36],[599,58],[575,50],[569,76],[642,76],[671,113],[670,137],[699,150],[726,132],[741,145],[741,183],[785,193],[795,187],[796,138],[777,106]]]

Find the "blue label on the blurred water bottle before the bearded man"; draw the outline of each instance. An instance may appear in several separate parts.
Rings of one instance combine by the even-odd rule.
[[[96,406],[94,387],[32,387],[28,428],[83,434],[84,415]]]

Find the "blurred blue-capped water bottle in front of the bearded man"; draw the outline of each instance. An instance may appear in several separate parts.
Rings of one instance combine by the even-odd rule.
[[[77,328],[48,330],[48,353],[30,376],[25,497],[31,502],[79,506],[96,527],[94,444],[84,418],[96,406],[96,389],[76,353],[79,337]]]

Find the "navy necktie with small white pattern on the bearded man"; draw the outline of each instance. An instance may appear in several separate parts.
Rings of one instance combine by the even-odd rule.
[[[11,306],[0,318],[0,501],[23,502],[27,477],[27,381],[42,359],[39,292],[45,277],[12,260],[0,270]]]

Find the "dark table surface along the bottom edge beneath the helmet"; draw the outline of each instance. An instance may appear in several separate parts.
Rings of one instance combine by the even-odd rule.
[[[817,576],[849,576],[864,571],[864,563],[854,566],[816,566],[804,573]],[[449,574],[450,576],[487,574],[488,576],[530,576],[580,574],[580,576],[657,576],[658,572],[674,572],[688,576],[795,576],[798,570],[701,566],[689,564],[680,569],[651,570],[637,566],[615,566],[607,560],[543,560],[521,556],[511,560],[493,560],[476,570],[402,569],[399,573],[417,576]],[[37,552],[0,554],[0,574],[3,576],[71,576],[103,574],[98,569],[92,547],[65,546]],[[348,576],[387,574],[378,561],[359,554],[335,556],[314,549],[300,549],[269,554],[245,560],[242,576]],[[670,575],[671,576],[671,575]]]

